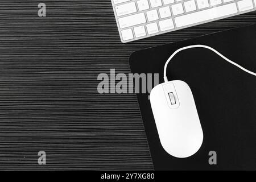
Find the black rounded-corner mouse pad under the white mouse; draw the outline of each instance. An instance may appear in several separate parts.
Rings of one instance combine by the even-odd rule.
[[[159,73],[162,83],[168,57],[192,44],[213,47],[256,72],[256,25],[134,52],[131,72]],[[167,154],[160,144],[148,94],[137,94],[155,170],[255,170],[256,77],[204,48],[178,53],[168,65],[167,77],[190,86],[204,140],[200,150],[188,158]]]

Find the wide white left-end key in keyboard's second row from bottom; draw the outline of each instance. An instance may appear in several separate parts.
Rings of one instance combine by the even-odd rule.
[[[120,28],[127,28],[131,26],[135,26],[137,24],[146,23],[146,17],[144,13],[139,13],[139,14],[119,18],[118,23]]]

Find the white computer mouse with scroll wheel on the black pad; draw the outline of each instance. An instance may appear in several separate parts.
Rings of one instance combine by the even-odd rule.
[[[150,103],[164,150],[176,158],[195,154],[203,143],[203,130],[188,84],[174,80],[156,85]]]

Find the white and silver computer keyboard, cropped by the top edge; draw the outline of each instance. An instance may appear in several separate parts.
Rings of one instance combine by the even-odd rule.
[[[123,43],[256,10],[256,0],[112,0]]]

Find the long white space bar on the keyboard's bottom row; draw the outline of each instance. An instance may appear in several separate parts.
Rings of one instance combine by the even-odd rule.
[[[188,26],[195,23],[204,22],[214,18],[220,18],[226,15],[232,15],[237,13],[236,3],[229,3],[227,5],[213,7],[203,11],[197,11],[195,13],[178,16],[175,18],[177,27]]]

